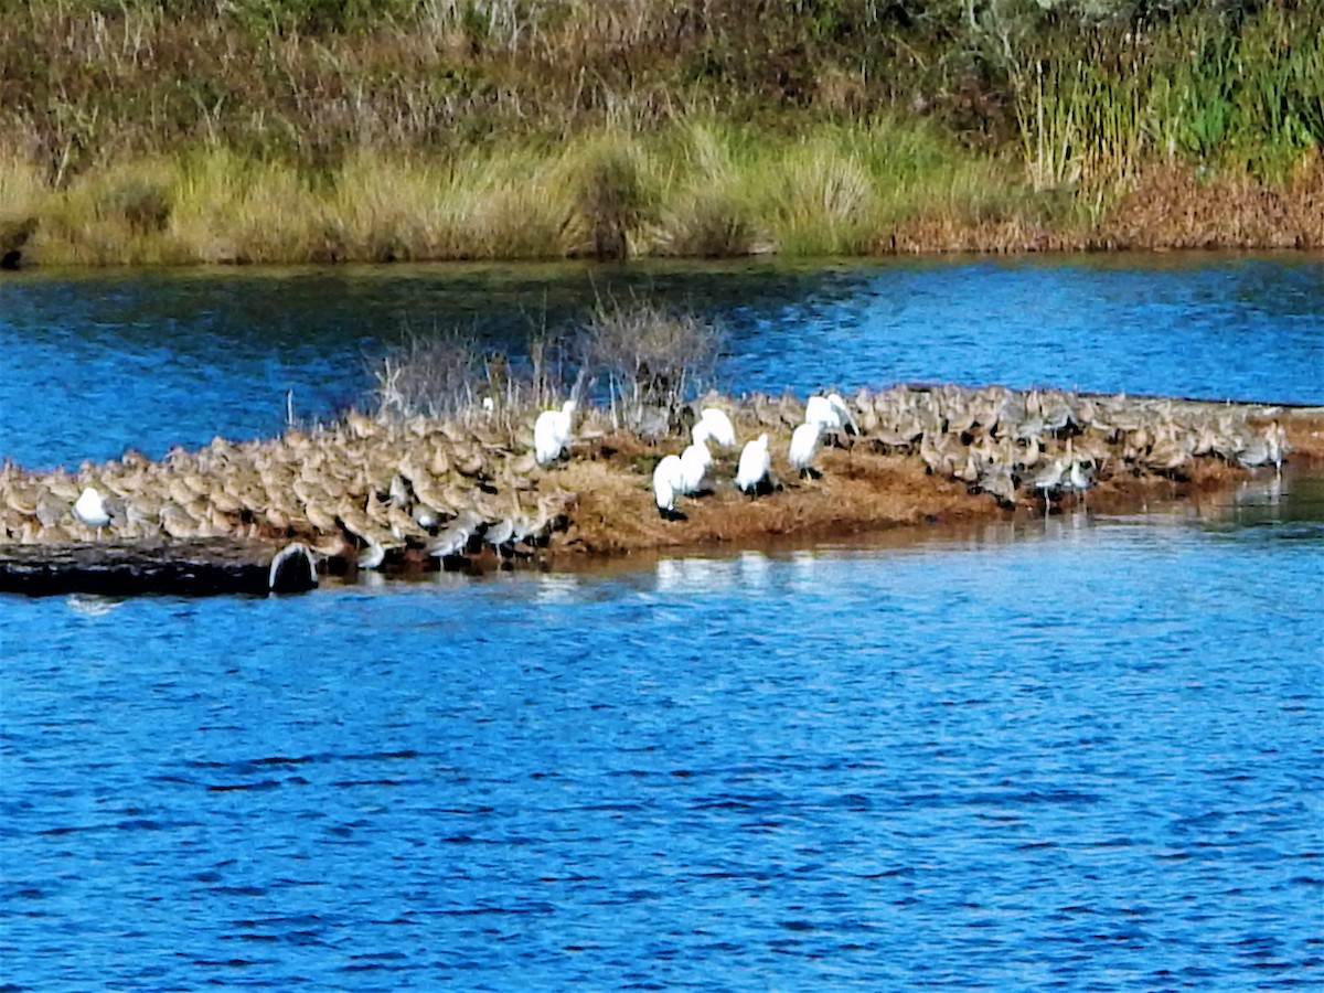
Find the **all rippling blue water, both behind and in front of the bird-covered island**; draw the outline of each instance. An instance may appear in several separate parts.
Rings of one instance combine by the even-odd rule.
[[[402,319],[515,334],[409,271],[0,281],[0,450],[269,433]],[[733,324],[741,389],[1324,399],[1300,262],[654,278]],[[1321,576],[1288,473],[583,575],[0,597],[0,988],[1320,986]]]

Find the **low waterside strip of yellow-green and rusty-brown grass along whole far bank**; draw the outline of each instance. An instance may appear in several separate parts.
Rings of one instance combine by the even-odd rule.
[[[11,156],[0,234],[30,230],[24,263],[52,265],[1324,246],[1317,155],[1276,183],[1153,164],[1092,197],[964,155],[896,122],[788,142],[703,119],[650,139],[364,151],[323,173],[220,147],[65,188]]]

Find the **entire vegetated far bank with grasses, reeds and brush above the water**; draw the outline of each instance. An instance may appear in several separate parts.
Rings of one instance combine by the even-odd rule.
[[[0,253],[1092,246],[1156,175],[1153,244],[1219,242],[1211,183],[1320,244],[1321,40],[1312,0],[0,0]]]

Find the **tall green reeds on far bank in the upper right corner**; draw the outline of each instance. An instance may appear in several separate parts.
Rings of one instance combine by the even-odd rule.
[[[1145,164],[1178,158],[1282,184],[1324,140],[1317,4],[1050,33],[1022,65],[1010,77],[1038,191],[1125,187]]]

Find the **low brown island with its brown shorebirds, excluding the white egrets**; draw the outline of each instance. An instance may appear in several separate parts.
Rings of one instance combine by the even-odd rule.
[[[813,463],[817,478],[800,478],[782,454],[805,412],[798,397],[702,402],[726,408],[741,440],[771,436],[769,491],[736,490],[737,450],[715,449],[704,490],[679,498],[683,516],[666,519],[649,481],[687,429],[647,440],[597,408],[583,412],[569,457],[549,466],[530,450],[527,412],[451,421],[351,414],[266,442],[217,438],[159,462],[126,453],[77,474],[5,463],[0,545],[56,553],[70,544],[155,542],[168,556],[171,542],[242,539],[273,549],[306,543],[330,576],[563,569],[1198,499],[1275,471],[1266,448],[1275,438],[1288,471],[1324,466],[1321,406],[939,384],[851,395],[857,433],[826,438]],[[1071,466],[1084,482],[1067,485]],[[85,487],[105,495],[111,523],[103,534],[74,518]]]

